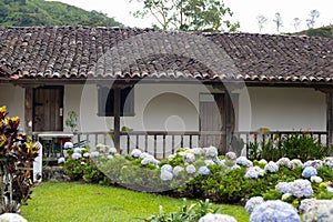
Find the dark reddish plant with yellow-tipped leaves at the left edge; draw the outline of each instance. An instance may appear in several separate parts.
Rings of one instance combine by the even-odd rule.
[[[19,133],[20,119],[7,115],[6,107],[0,108],[0,214],[18,212],[30,198],[31,165],[39,149]]]

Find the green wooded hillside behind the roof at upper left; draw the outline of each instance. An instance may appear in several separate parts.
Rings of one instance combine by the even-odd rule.
[[[120,22],[98,11],[44,0],[0,0],[1,27],[31,26],[120,27]]]

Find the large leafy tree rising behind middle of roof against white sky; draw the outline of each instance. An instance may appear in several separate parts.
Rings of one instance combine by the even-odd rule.
[[[163,30],[236,31],[240,27],[239,22],[232,23],[225,19],[232,17],[232,11],[222,0],[144,0],[142,10],[135,11],[133,16],[152,16],[157,21],[154,27]]]

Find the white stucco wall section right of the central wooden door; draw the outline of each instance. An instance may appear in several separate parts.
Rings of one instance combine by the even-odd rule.
[[[249,101],[240,95],[240,130],[314,130],[326,129],[325,94],[302,88],[249,88]],[[250,117],[250,119],[249,119]]]

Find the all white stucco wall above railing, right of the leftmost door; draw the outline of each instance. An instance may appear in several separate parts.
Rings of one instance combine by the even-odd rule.
[[[137,131],[196,131],[201,92],[209,93],[202,84],[138,84],[134,88],[135,115],[121,118],[121,125]],[[113,118],[97,115],[95,84],[65,85],[65,117],[70,110],[80,114],[80,131],[113,128]],[[326,128],[325,112],[325,94],[314,89],[246,88],[240,91],[238,129],[320,131]]]

